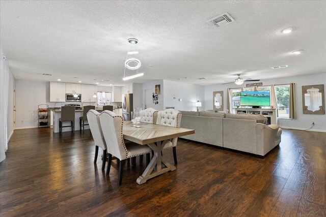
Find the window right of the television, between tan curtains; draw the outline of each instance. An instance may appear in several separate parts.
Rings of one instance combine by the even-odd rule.
[[[289,118],[290,84],[275,85],[277,108],[280,118]]]

